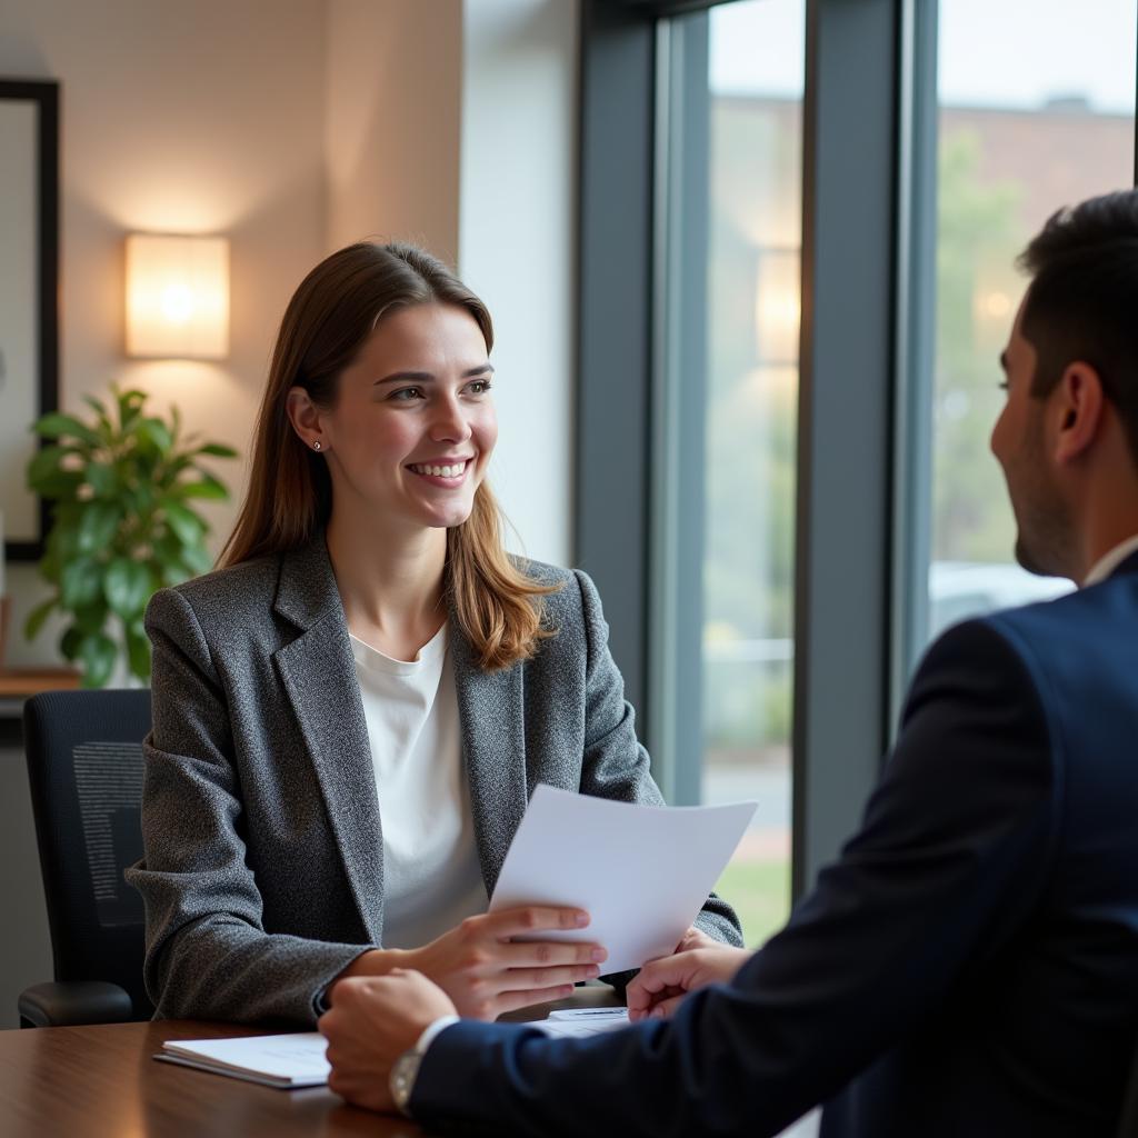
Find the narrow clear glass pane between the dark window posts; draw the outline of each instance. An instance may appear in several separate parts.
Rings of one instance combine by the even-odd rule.
[[[702,798],[753,798],[720,888],[749,945],[790,906],[803,0],[709,13]]]

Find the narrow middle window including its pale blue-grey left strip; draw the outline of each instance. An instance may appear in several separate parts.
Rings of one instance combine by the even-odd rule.
[[[790,907],[803,69],[803,0],[658,28],[652,748],[670,801],[759,803],[750,945]]]

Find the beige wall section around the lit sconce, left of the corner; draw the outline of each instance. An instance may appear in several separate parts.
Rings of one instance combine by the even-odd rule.
[[[275,325],[323,254],[323,0],[0,0],[0,75],[61,82],[60,403],[109,380],[176,402],[189,427],[246,451]],[[228,233],[231,355],[221,364],[122,354],[123,237]],[[239,490],[241,464],[218,464]],[[215,508],[216,539],[233,506]],[[53,659],[18,630],[34,568],[8,567],[8,662]]]

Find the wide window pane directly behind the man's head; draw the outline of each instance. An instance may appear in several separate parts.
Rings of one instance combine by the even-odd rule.
[[[1133,182],[1136,41],[1135,0],[940,0],[930,636],[1071,587],[1013,562],[996,361],[1031,236]]]

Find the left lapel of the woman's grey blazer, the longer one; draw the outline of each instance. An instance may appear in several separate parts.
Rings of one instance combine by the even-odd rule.
[[[376,773],[344,608],[323,541],[282,559],[277,611],[302,634],[274,659],[372,943],[384,932],[384,840]]]

